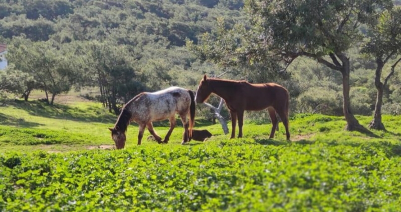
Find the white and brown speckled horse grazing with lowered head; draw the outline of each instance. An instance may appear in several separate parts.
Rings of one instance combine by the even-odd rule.
[[[184,144],[189,141],[189,137],[192,135],[192,128],[195,124],[195,101],[193,92],[181,87],[169,87],[156,92],[142,92],[133,97],[122,107],[114,127],[109,128],[111,137],[117,149],[124,148],[126,140],[125,131],[129,123],[135,121],[139,124],[138,145],[141,144],[145,127],[148,128],[158,143],[167,143],[176,124],[175,113],[179,114],[184,126],[181,142],[181,144]],[[170,121],[170,128],[164,140],[161,141],[161,137],[153,129],[152,122],[167,118]]]

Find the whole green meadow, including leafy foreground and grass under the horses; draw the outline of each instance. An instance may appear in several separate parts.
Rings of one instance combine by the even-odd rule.
[[[219,124],[198,117],[195,128],[214,134],[205,142],[180,145],[179,123],[168,144],[144,139],[137,146],[131,124],[125,149],[116,150],[107,129],[115,115],[76,96],[60,99],[0,107],[0,211],[401,207],[399,116],[383,116],[386,132],[362,134],[344,131],[343,117],[292,114],[291,142],[281,123],[274,139],[269,120],[247,120],[244,138],[228,139]],[[357,118],[363,125],[371,119]],[[164,137],[168,121],[154,125]]]

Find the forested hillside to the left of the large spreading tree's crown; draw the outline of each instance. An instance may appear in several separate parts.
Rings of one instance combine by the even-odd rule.
[[[194,88],[197,76],[212,70],[196,62],[185,39],[196,42],[219,16],[238,22],[242,6],[240,0],[1,0],[0,40],[9,44],[8,60],[15,64],[8,75],[22,71],[37,82],[7,91],[28,98],[21,90],[43,89],[53,103],[71,86],[98,86],[97,99],[118,111],[143,90]]]

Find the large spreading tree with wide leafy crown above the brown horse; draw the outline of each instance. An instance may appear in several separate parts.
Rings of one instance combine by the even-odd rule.
[[[226,29],[220,20],[201,46],[188,45],[203,60],[225,65],[263,62],[270,71],[280,66],[285,70],[300,56],[313,58],[342,75],[345,129],[366,132],[351,111],[347,50],[363,38],[359,25],[391,6],[391,0],[247,0],[248,25]]]

